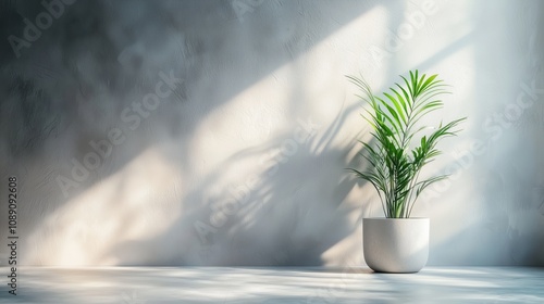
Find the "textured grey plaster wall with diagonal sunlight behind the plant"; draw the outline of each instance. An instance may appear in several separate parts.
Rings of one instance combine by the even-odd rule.
[[[363,264],[381,207],[343,169],[369,130],[344,75],[419,68],[453,85],[444,119],[469,116],[415,210],[430,264],[544,265],[544,3],[0,3],[21,264]]]

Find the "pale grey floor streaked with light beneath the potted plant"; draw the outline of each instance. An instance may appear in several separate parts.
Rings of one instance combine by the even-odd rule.
[[[544,303],[544,268],[22,268],[0,303]]]

